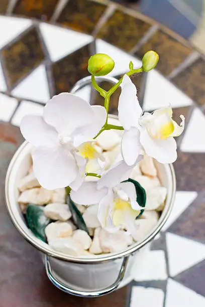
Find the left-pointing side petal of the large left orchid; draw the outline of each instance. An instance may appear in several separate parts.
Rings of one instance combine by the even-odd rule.
[[[57,141],[57,131],[48,125],[40,115],[26,115],[21,121],[21,133],[34,146]]]

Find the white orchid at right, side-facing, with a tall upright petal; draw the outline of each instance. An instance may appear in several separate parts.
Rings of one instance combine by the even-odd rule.
[[[184,116],[180,115],[180,126],[172,120],[170,106],[144,113],[136,96],[137,89],[125,75],[119,98],[119,120],[125,129],[122,138],[122,155],[131,166],[136,164],[141,148],[160,163],[173,163],[176,158],[176,141],[184,129]]]

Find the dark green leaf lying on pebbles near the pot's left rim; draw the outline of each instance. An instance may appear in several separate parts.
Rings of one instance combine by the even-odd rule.
[[[26,209],[26,221],[31,231],[46,242],[45,228],[51,220],[46,217],[44,210],[40,206],[29,204]]]

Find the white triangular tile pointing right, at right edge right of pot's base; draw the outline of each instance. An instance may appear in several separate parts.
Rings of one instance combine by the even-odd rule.
[[[205,245],[166,233],[169,273],[173,277],[205,259]]]

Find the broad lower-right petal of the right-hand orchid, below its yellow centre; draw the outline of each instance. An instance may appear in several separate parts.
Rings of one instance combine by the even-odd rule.
[[[141,129],[140,141],[146,154],[160,163],[173,163],[176,158],[176,141],[173,137],[157,139],[149,135],[146,129]]]

